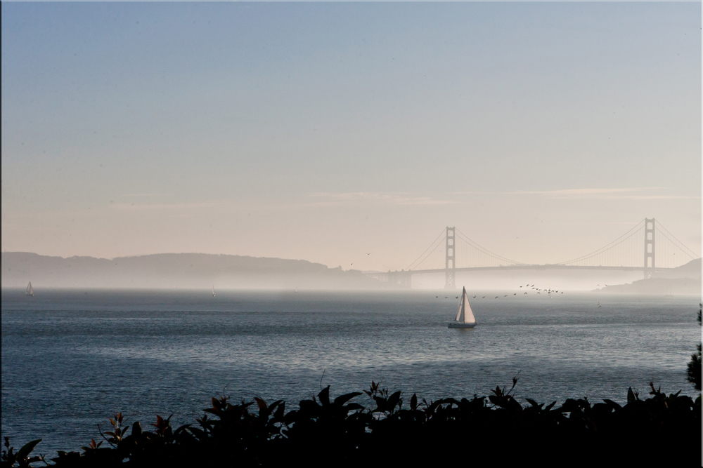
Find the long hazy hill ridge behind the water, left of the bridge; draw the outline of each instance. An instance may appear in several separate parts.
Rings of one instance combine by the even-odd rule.
[[[306,260],[205,253],[161,253],[108,260],[2,253],[1,286],[24,288],[376,289],[361,272]]]

